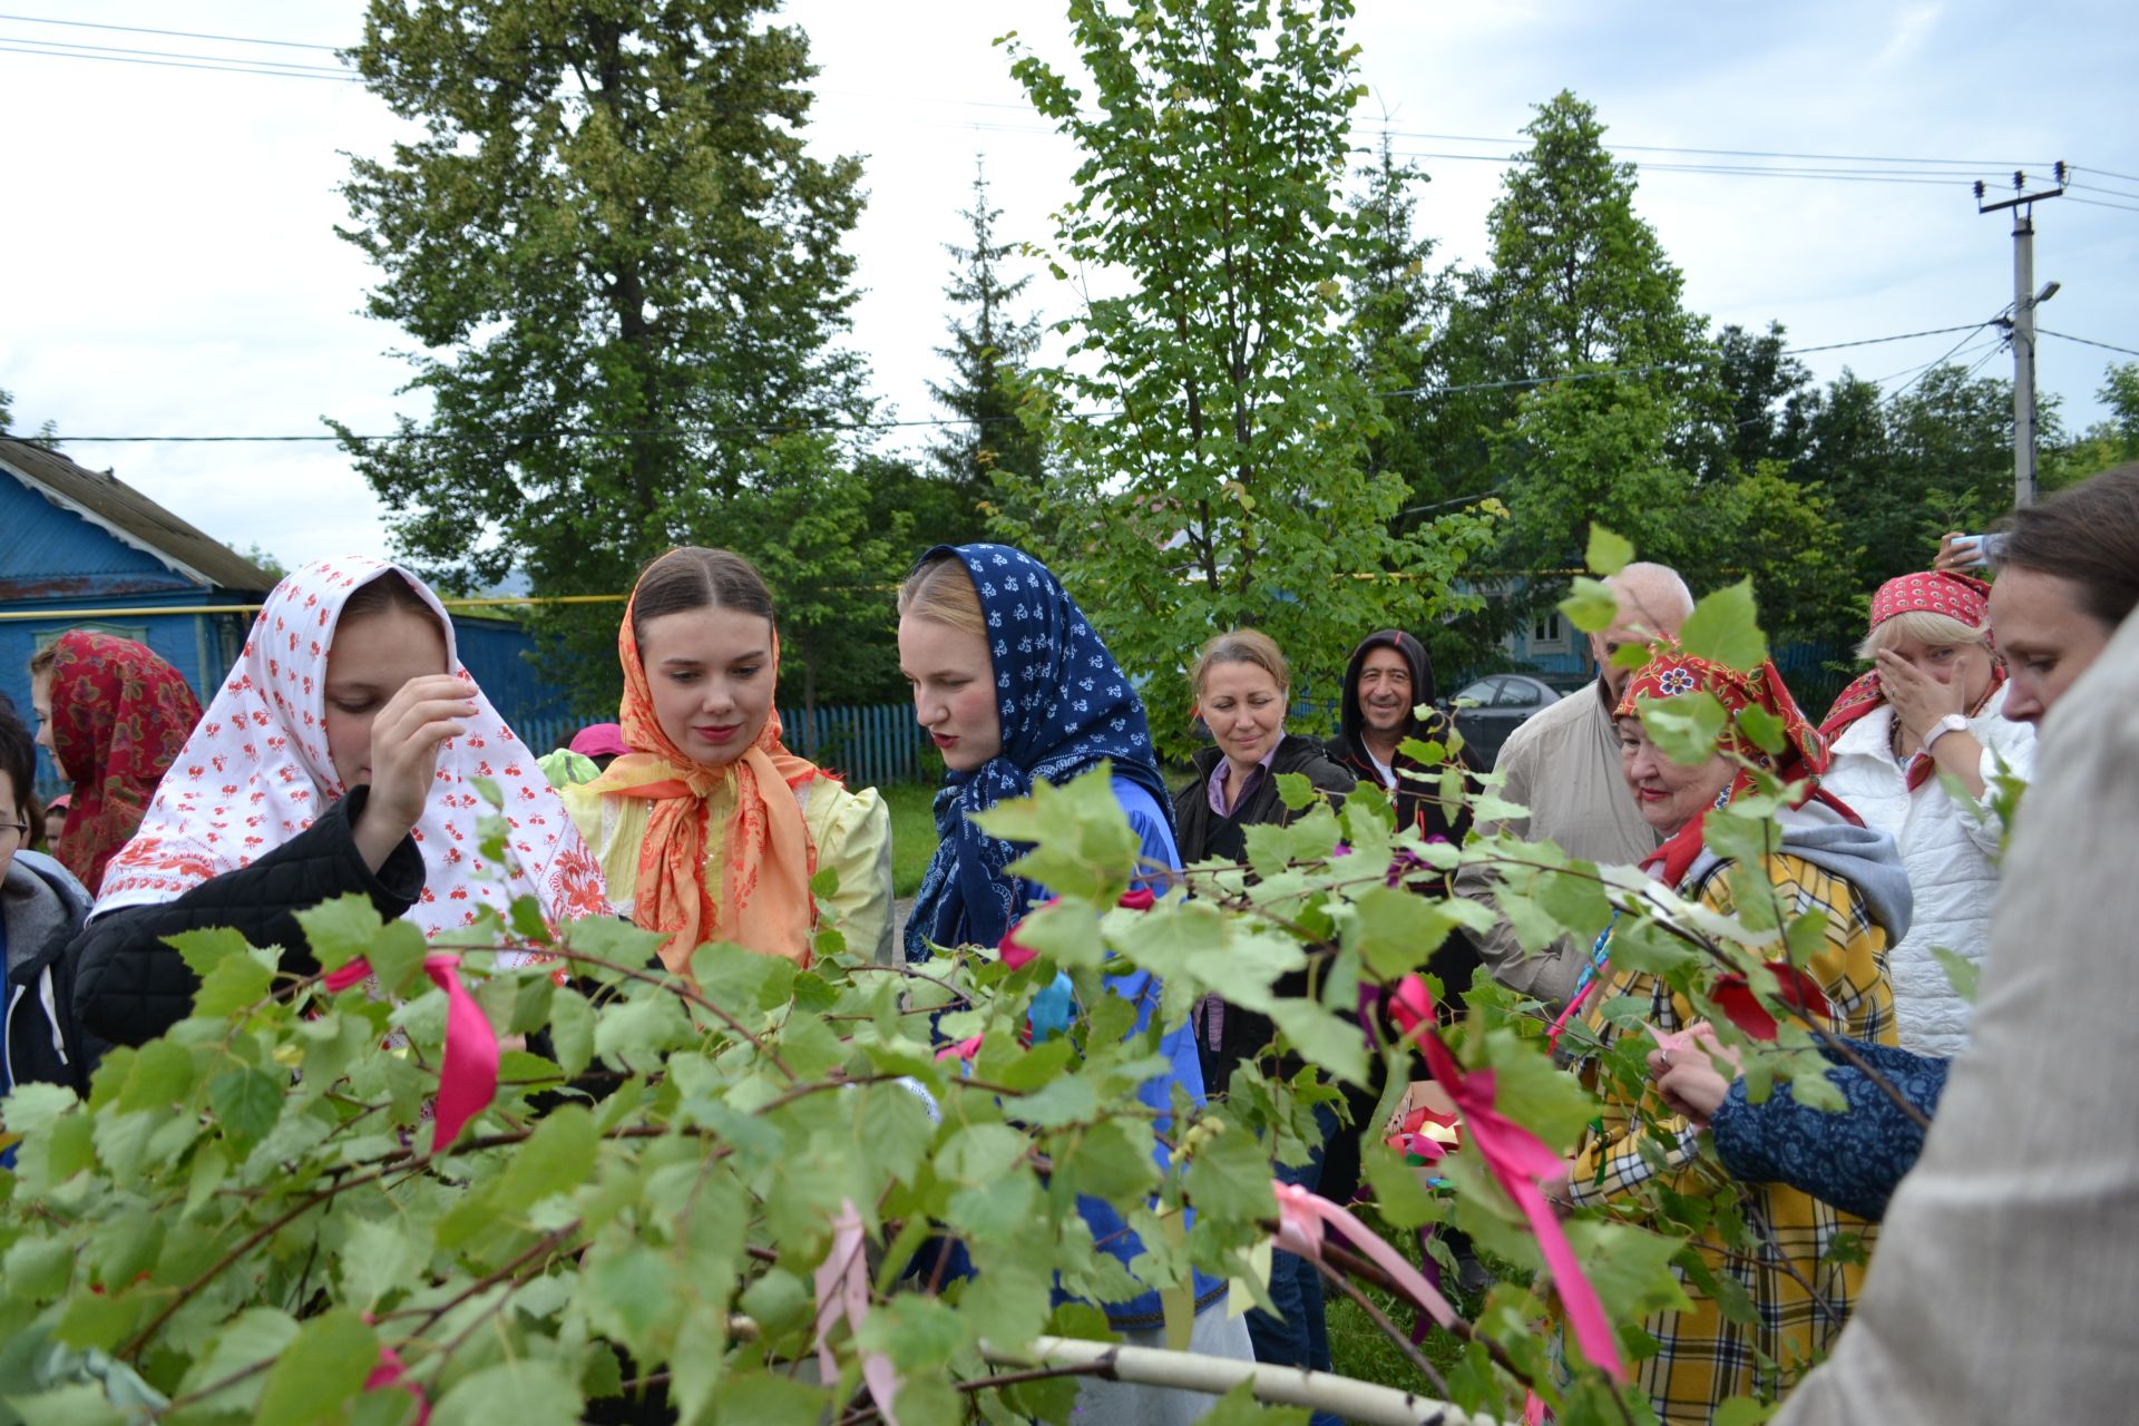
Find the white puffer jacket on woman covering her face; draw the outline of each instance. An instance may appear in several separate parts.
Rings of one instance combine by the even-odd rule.
[[[1979,774],[1985,787],[2000,759],[2009,772],[2034,776],[2034,727],[2004,718],[2004,688],[1968,720],[1968,731],[1983,744]],[[1904,765],[1893,757],[1889,706],[1874,708],[1842,729],[1833,755],[1835,763],[1822,785],[1848,802],[1865,825],[1893,834],[1902,844],[1902,866],[1908,868],[1908,889],[1917,898],[1908,936],[1887,951],[1902,1048],[1917,1054],[1959,1054],[1968,1043],[1970,1005],[1953,994],[1932,947],[1959,951],[1983,964],[2004,827],[1987,806],[1955,802],[1936,776],[1908,791]]]

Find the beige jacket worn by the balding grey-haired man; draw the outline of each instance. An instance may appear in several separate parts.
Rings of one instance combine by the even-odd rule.
[[[1632,864],[1658,849],[1662,838],[1641,819],[1619,774],[1619,733],[1604,699],[1604,682],[1598,680],[1508,733],[1493,765],[1504,776],[1499,795],[1527,806],[1529,817],[1484,832],[1504,827],[1529,840],[1551,840],[1583,862]],[[1457,872],[1457,894],[1478,902],[1491,904],[1493,883],[1484,868]],[[1525,954],[1506,921],[1478,939],[1478,956],[1499,983],[1549,1005],[1574,992],[1587,949],[1561,941]]]

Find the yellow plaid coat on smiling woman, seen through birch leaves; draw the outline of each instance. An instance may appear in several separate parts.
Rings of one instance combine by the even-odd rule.
[[[1788,853],[1769,857],[1767,870],[1788,917],[1827,915],[1827,949],[1807,966],[1827,994],[1827,1028],[1852,1039],[1895,1043],[1887,934],[1872,921],[1863,896],[1848,881]],[[1726,868],[1718,868],[1707,877],[1701,902],[1728,915],[1733,896],[1724,872]],[[1692,889],[1681,887],[1681,894],[1692,896]],[[1604,1020],[1604,1007],[1621,996],[1647,1001],[1643,1020],[1660,1030],[1683,1028],[1692,1018],[1692,1007],[1660,979],[1621,971],[1587,1011],[1585,1041],[1609,1048],[1626,1033]],[[1587,1084],[1596,1084],[1594,1056],[1581,1065],[1581,1073]],[[1662,1103],[1653,1101],[1651,1112],[1662,1114]],[[1701,1133],[1683,1118],[1660,1122],[1660,1133],[1641,1129],[1626,1103],[1606,1099],[1600,1127],[1574,1161],[1572,1199],[1606,1204],[1660,1176],[1668,1176],[1668,1187],[1677,1193],[1713,1191],[1722,1169],[1713,1161],[1696,1163]],[[1649,1154],[1664,1165],[1662,1172],[1643,1157],[1645,1142]],[[1641,1323],[1660,1349],[1634,1364],[1634,1379],[1649,1392],[1664,1422],[1705,1424],[1720,1402],[1748,1392],[1780,1398],[1810,1362],[1833,1347],[1861,1289],[1863,1268],[1827,1257],[1842,1236],[1857,1236],[1869,1253],[1876,1225],[1784,1184],[1745,1189],[1748,1221],[1758,1214],[1767,1225],[1767,1242],[1758,1242],[1763,1234],[1754,1229],[1754,1257],[1726,1253],[1713,1234],[1694,1242],[1718,1278],[1735,1281],[1752,1298],[1754,1323],[1724,1319],[1715,1302],[1703,1298],[1692,1283],[1686,1283],[1686,1293],[1694,1300],[1690,1311],[1658,1313]],[[1831,1313],[1814,1302],[1814,1291]]]

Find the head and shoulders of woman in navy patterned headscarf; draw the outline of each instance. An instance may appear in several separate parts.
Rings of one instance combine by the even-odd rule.
[[[937,545],[898,590],[898,663],[950,770],[907,960],[930,945],[995,945],[1025,915],[1033,885],[1003,872],[1018,851],[967,815],[1029,797],[1035,780],[1112,761],[1144,859],[1179,870],[1144,703],[1046,564],[1010,545]]]

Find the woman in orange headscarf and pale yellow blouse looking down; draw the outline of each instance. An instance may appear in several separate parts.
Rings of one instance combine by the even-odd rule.
[[[672,549],[631,592],[616,652],[631,753],[563,789],[610,902],[667,934],[661,960],[729,941],[809,964],[811,879],[847,947],[892,958],[890,810],[781,744],[772,594],[725,549]]]

